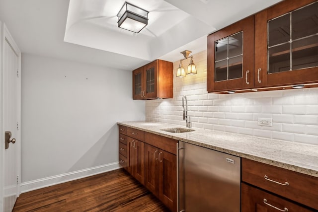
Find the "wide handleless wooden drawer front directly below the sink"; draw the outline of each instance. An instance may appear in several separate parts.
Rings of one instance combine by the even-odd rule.
[[[156,146],[162,150],[170,152],[172,154],[177,153],[177,140],[166,138],[152,133],[145,133],[145,142],[153,146]]]

